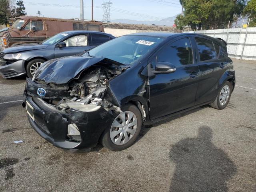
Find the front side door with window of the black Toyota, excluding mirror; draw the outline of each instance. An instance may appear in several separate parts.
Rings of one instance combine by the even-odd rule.
[[[162,48],[150,62],[169,62],[176,71],[150,78],[150,118],[155,119],[194,106],[198,88],[198,64],[190,38],[178,39]]]

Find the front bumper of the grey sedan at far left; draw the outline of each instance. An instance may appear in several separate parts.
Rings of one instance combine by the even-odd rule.
[[[3,78],[12,78],[26,74],[25,60],[10,62],[0,60],[0,74]]]

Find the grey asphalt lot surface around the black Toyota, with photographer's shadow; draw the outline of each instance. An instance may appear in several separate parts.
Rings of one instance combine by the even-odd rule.
[[[234,60],[234,67],[226,109],[202,106],[143,127],[121,152],[99,144],[79,154],[46,142],[22,102],[10,102],[23,99],[25,78],[0,78],[0,191],[254,192],[256,62]]]

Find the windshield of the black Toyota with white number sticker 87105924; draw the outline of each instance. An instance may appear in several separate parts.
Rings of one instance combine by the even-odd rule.
[[[104,57],[125,65],[132,65],[162,42],[163,38],[126,35],[93,48],[83,56]]]

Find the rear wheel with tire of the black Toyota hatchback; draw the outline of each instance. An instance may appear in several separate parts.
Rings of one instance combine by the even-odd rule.
[[[227,92],[227,87],[228,87],[228,92]],[[232,85],[230,84],[230,82],[227,81],[222,85],[216,99],[214,100],[214,102],[210,104],[210,106],[212,106],[212,108],[215,108],[215,109],[226,108],[231,97],[231,92],[232,92]],[[221,98],[220,96],[224,96],[224,97]]]

